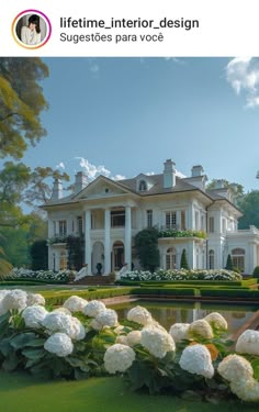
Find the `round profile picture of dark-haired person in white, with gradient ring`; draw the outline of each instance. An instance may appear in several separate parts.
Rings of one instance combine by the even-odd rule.
[[[12,24],[14,40],[25,48],[42,47],[49,38],[52,26],[47,16],[37,10],[25,10]]]

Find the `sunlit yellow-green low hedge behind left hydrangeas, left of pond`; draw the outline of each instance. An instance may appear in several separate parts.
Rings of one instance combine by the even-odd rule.
[[[69,297],[76,294],[80,298],[87,299],[87,300],[93,300],[93,299],[105,299],[105,298],[114,298],[125,294],[131,294],[133,289],[132,288],[116,288],[116,289],[95,289],[90,288],[89,290],[63,290],[63,291],[42,291],[41,294],[45,298],[46,304],[50,305],[61,305],[65,300],[67,300]]]

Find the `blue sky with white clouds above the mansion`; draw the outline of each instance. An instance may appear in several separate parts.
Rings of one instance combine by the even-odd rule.
[[[162,172],[167,158],[190,176],[258,189],[259,60],[247,58],[44,58],[47,137],[30,166],[59,165],[126,178]]]

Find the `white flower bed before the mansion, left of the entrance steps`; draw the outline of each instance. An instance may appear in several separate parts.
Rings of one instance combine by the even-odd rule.
[[[67,283],[74,280],[76,271],[74,270],[59,270],[57,272],[53,270],[30,270],[23,268],[13,268],[7,276],[7,280],[38,280],[48,282],[60,282]]]

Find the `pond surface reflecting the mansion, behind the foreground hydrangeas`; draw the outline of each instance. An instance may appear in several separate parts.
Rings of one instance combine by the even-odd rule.
[[[191,323],[198,319],[205,318],[211,312],[219,312],[228,323],[229,334],[237,332],[246,323],[258,307],[216,305],[195,303],[156,303],[156,302],[134,302],[127,304],[112,305],[119,319],[126,318],[128,310],[137,304],[145,307],[151,312],[153,318],[167,330],[173,323]]]

